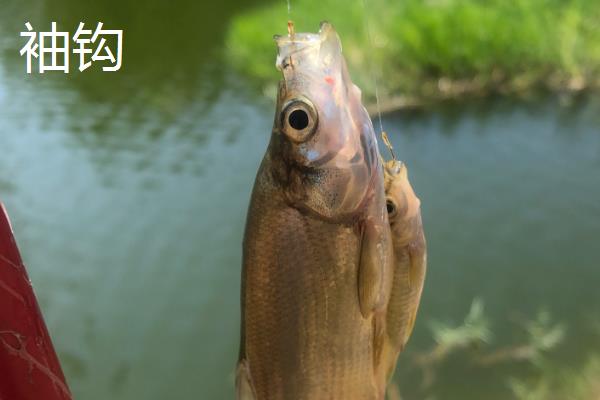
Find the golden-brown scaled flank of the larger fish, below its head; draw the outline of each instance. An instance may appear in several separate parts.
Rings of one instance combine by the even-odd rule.
[[[360,389],[372,391],[372,370],[352,368],[372,365],[370,347],[355,347],[371,340],[371,323],[360,316],[355,291],[357,235],[351,228],[306,219],[295,210],[274,207],[256,215],[273,228],[259,233],[269,236],[266,245],[250,246],[247,253],[262,262],[254,264],[260,270],[246,270],[246,285],[265,293],[246,304],[247,310],[256,310],[246,313],[248,330],[256,332],[246,338],[253,349],[249,364],[252,368],[254,360],[266,359],[252,370],[258,398],[288,398],[286,393],[294,393],[296,399],[352,398],[349,393],[357,399],[372,398]],[[299,226],[303,229],[296,229]],[[330,246],[323,237],[345,244]],[[311,239],[322,245],[314,246]],[[323,268],[310,268],[315,263]],[[292,353],[297,356],[289,356]],[[294,380],[285,379],[286,372]],[[312,386],[303,388],[301,381]]]

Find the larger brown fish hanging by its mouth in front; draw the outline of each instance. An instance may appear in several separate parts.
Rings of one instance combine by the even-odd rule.
[[[238,400],[382,400],[392,231],[373,124],[333,26],[282,72],[242,251]]]

